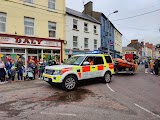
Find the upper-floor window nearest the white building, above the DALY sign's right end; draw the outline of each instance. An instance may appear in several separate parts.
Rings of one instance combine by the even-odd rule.
[[[56,37],[56,23],[48,22],[49,37]]]

